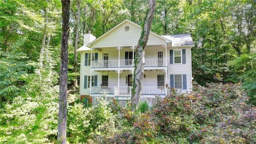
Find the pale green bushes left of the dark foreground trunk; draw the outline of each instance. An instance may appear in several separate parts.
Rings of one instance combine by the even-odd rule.
[[[50,76],[51,77],[51,76]],[[0,111],[0,143],[44,143],[57,136],[58,86],[44,71],[26,78],[22,92]]]

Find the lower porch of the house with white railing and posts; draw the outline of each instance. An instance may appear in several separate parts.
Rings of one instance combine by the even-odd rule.
[[[97,74],[97,79],[95,79]],[[106,93],[115,96],[131,96],[132,93],[132,71],[93,71],[92,82],[90,82],[90,95]],[[94,75],[94,77],[93,77]],[[91,79],[90,79],[91,80]],[[97,81],[97,84],[93,81]],[[142,95],[166,95],[167,73],[165,70],[145,70],[141,80]]]

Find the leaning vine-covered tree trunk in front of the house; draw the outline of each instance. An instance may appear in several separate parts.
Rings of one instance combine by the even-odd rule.
[[[153,22],[155,7],[156,7],[156,0],[149,0],[147,15],[145,17],[140,39],[135,50],[134,72],[133,72],[133,81],[132,81],[132,98],[131,98],[133,111],[137,110],[139,106],[140,92],[141,92],[141,79],[144,74],[144,65],[145,65],[145,47],[148,42],[148,36],[150,33],[151,24]]]

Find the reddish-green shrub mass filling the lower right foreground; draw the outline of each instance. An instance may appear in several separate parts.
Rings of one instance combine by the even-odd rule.
[[[108,143],[255,143],[256,109],[241,84],[194,86],[190,94],[170,90],[151,111]]]

